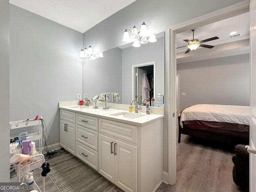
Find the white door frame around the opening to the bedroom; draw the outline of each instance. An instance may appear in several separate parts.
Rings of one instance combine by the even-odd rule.
[[[250,0],[199,16],[168,28],[168,183],[176,183],[176,34],[249,12]]]

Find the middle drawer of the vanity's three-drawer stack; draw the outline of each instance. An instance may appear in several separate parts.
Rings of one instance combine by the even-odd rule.
[[[98,132],[76,125],[76,140],[98,151]]]

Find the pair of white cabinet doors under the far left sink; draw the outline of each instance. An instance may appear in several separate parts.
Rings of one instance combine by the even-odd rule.
[[[66,125],[66,128],[65,128]],[[60,120],[60,146],[76,155],[76,126],[70,122]]]

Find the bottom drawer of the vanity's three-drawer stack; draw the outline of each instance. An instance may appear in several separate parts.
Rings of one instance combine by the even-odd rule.
[[[98,152],[76,141],[76,156],[98,171]]]

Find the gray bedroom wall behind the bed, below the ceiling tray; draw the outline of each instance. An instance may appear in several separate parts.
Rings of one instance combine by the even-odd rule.
[[[180,111],[194,104],[250,106],[249,54],[177,64],[177,74]]]

